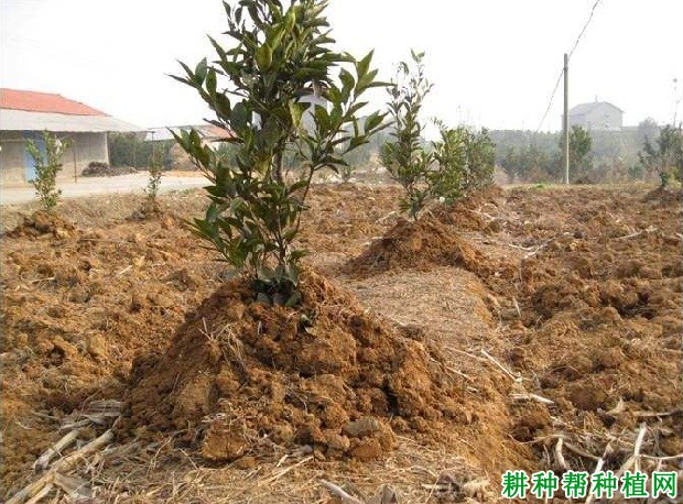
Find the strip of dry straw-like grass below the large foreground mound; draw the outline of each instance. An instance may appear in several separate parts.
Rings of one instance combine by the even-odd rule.
[[[112,453],[109,458],[113,463],[98,474],[99,502],[336,502],[322,481],[334,482],[361,502],[376,495],[382,484],[390,485],[401,503],[430,502],[432,497],[448,502],[449,497],[462,501],[463,489],[458,484],[481,475],[453,452],[425,448],[408,438],[401,438],[398,449],[382,462],[357,464],[294,456],[259,461],[248,469],[239,469],[235,463],[200,467],[202,461],[192,453],[171,450],[169,445],[152,453],[151,449],[138,449],[124,458],[115,458]],[[456,475],[460,483],[434,486],[444,472]]]

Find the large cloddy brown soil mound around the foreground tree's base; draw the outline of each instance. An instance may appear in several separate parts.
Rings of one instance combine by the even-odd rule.
[[[397,431],[438,438],[464,417],[438,352],[312,271],[302,294],[294,310],[254,302],[243,280],[221,286],[165,353],[133,364],[130,426],[188,429],[214,461],[264,454],[269,443],[370,460]]]

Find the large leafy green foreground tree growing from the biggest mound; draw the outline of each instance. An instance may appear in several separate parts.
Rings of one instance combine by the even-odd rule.
[[[240,0],[224,2],[234,41],[224,48],[210,39],[217,59],[195,69],[182,64],[175,77],[197,90],[216,113],[212,122],[234,133],[235,164],[205,145],[196,131],[177,142],[205,173],[210,205],[195,231],[236,270],[253,280],[258,297],[296,305],[299,262],[305,254],[293,242],[306,208],[312,178],[324,168],[338,172],[343,156],[383,128],[371,113],[362,124],[361,96],[376,81],[372,53],[356,61],[329,48],[326,1]],[[338,79],[333,74],[338,73]],[[315,92],[328,108],[302,102]],[[288,177],[284,158],[300,161],[297,177]]]

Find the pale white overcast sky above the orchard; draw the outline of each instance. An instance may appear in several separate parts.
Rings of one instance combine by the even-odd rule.
[[[338,48],[375,48],[384,79],[411,47],[426,52],[426,117],[535,130],[594,3],[332,0],[327,15]],[[625,110],[626,124],[671,122],[682,20],[682,0],[603,0],[572,57],[570,106],[597,98]],[[0,0],[0,86],[57,92],[141,127],[197,123],[202,100],[166,74],[176,59],[212,56],[205,35],[225,29],[220,0]],[[557,130],[561,113],[562,87],[541,129]]]

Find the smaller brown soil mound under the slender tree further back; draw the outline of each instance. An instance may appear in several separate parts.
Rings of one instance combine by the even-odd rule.
[[[430,271],[434,266],[459,266],[483,274],[496,267],[456,229],[425,215],[414,222],[399,220],[383,238],[350,260],[345,273],[362,276],[406,267]]]

